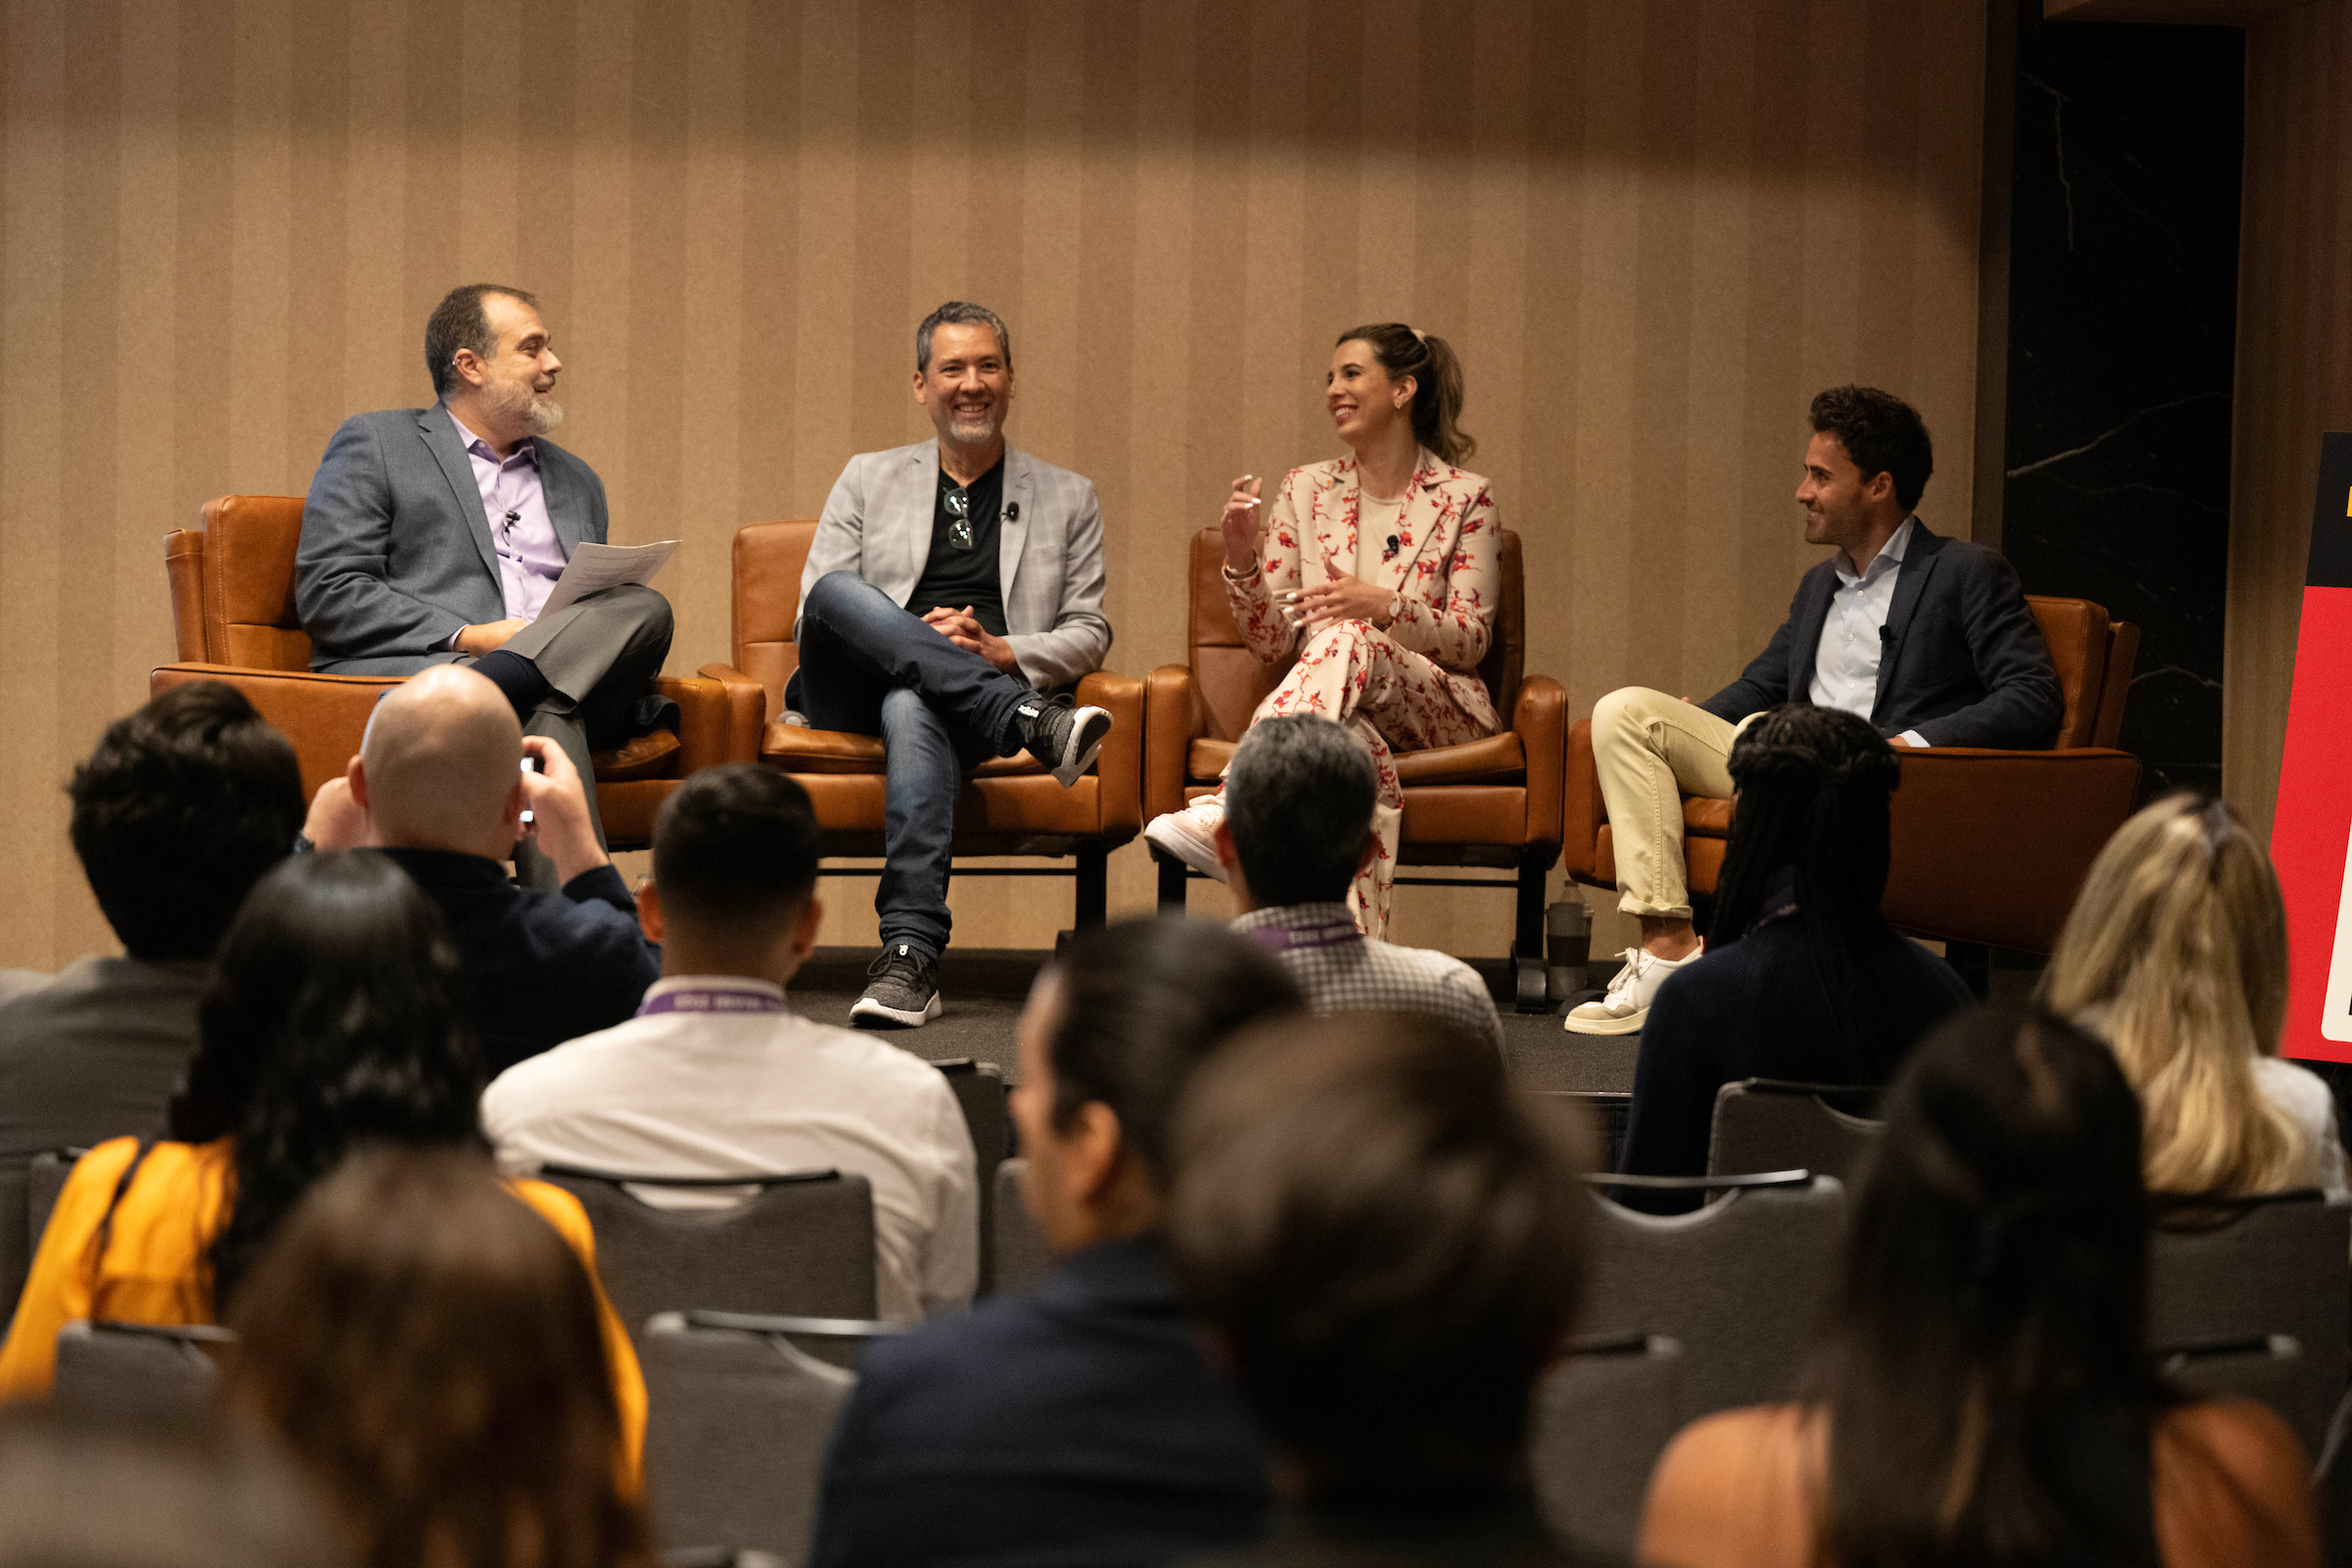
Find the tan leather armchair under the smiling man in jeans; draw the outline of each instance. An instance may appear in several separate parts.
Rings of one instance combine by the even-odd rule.
[[[800,569],[816,522],[753,522],[734,543],[734,663],[703,665],[727,689],[727,755],[757,759],[800,780],[816,802],[828,856],[882,853],[882,741],[783,722],[783,684],[800,668]],[[993,757],[964,776],[955,804],[957,856],[1073,858],[1061,867],[971,867],[960,877],[1075,877],[1080,931],[1108,907],[1108,856],[1143,827],[1143,682],[1096,670],[1077,701],[1110,712],[1094,771],[1063,790],[1028,752]],[[870,877],[873,870],[828,867]]]

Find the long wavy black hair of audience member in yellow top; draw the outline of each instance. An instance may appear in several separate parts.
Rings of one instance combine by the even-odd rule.
[[[362,1143],[487,1147],[440,910],[383,856],[296,856],[221,938],[172,1138],[238,1140],[214,1312],[315,1180]]]

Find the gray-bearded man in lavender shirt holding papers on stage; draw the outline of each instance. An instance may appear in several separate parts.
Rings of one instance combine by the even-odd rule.
[[[593,748],[656,729],[670,602],[619,585],[541,614],[581,543],[604,543],[604,484],[548,440],[562,423],[539,301],[475,282],[426,322],[430,409],[353,414],[327,442],[301,512],[294,609],[310,668],[416,675],[473,665],[524,733],[564,750],[583,780]],[[597,842],[604,823],[588,813]],[[517,851],[527,882],[546,858]]]

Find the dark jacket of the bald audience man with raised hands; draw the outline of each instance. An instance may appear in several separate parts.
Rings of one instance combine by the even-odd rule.
[[[527,1056],[633,1018],[661,978],[661,947],[637,926],[637,900],[612,865],[562,893],[515,886],[506,867],[442,849],[386,849],[440,905],[466,969],[466,1023],[482,1081]]]

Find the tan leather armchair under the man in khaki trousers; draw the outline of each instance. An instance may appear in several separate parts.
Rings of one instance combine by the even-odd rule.
[[[2065,717],[2046,750],[1964,745],[1903,750],[1893,799],[1893,870],[1886,919],[1917,936],[2049,952],[2091,860],[2124,825],[2140,792],[2140,759],[2114,750],[2140,656],[2140,628],[2110,621],[2089,599],[2027,607],[2058,665]],[[1715,893],[1731,835],[1731,802],[1684,797],[1691,893]],[[1616,849],[1592,722],[1569,731],[1566,867],[1588,886],[1616,886]]]

